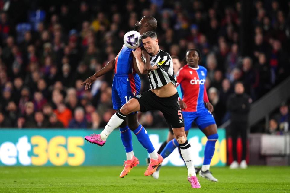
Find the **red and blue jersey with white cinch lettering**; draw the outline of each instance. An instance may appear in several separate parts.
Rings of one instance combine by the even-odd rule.
[[[203,66],[192,68],[188,65],[180,68],[176,74],[177,85],[180,85],[182,100],[186,103],[186,112],[196,112],[205,108],[208,95],[205,88],[207,70]]]

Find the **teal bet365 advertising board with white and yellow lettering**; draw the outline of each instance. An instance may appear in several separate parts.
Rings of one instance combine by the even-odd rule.
[[[101,130],[76,129],[0,129],[0,166],[82,166],[122,165],[126,160],[125,149],[116,129],[103,147],[87,143],[85,135]],[[168,129],[147,129],[153,146],[159,149],[166,140]],[[226,160],[225,130],[218,129],[219,140],[215,146],[212,166],[224,166]],[[140,165],[145,165],[147,151],[132,132],[133,149]],[[188,135],[194,151],[195,165],[201,165],[207,138],[199,129],[191,129]],[[175,149],[163,165],[184,166],[178,149]]]

